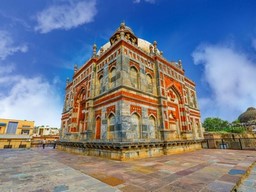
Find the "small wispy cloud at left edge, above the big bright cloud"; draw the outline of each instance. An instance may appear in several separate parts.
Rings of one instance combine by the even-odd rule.
[[[0,30],[0,60],[5,60],[6,57],[16,52],[27,52],[26,45],[14,45],[14,41],[9,33]]]

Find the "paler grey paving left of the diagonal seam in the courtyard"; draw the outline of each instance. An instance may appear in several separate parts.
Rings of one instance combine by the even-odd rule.
[[[49,148],[0,150],[0,192],[119,191],[51,158],[52,153],[59,154]]]

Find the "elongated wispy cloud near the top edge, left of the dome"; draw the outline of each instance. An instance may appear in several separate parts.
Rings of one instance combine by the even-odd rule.
[[[62,2],[63,3],[63,2]],[[48,33],[55,29],[71,29],[93,21],[96,15],[96,1],[68,1],[53,5],[37,14],[36,31]]]

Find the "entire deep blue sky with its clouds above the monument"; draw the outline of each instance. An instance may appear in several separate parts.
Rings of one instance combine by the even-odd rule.
[[[202,121],[256,107],[254,0],[1,0],[0,118],[60,127],[66,78],[125,22],[182,60]]]

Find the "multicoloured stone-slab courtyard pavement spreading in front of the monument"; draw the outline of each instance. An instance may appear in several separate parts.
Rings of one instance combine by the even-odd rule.
[[[0,191],[229,192],[255,161],[256,152],[245,150],[203,149],[127,162],[52,148],[0,150]],[[245,184],[254,190],[255,183],[244,180],[240,192]]]

